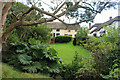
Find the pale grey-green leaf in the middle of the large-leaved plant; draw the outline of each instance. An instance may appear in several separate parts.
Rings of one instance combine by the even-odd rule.
[[[32,57],[28,56],[27,54],[20,55],[18,59],[22,64],[30,64],[32,62],[31,61]]]

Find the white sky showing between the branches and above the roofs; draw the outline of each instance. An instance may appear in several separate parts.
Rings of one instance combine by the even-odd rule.
[[[24,0],[19,0],[19,1],[24,1]],[[47,4],[50,3],[50,0],[43,0]],[[50,4],[51,5],[51,4]],[[44,5],[47,10],[47,5]],[[118,8],[118,6],[116,6]],[[104,23],[109,20],[110,17],[114,18],[118,16],[118,9],[110,8],[108,10],[103,10],[100,14],[97,14],[97,16],[94,19],[94,23],[91,23],[91,25],[94,25],[95,23]],[[68,20],[65,17],[61,18],[62,20],[64,19],[66,22],[74,22],[74,20]],[[55,22],[58,22],[58,20],[55,20]],[[81,23],[80,26],[88,26],[88,23]]]

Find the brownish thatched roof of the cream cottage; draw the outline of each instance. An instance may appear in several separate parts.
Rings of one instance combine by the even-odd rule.
[[[71,29],[71,30],[75,30],[75,29],[79,29],[80,26],[79,25],[65,25],[61,22],[48,22],[46,23],[47,26],[49,26],[51,29]]]

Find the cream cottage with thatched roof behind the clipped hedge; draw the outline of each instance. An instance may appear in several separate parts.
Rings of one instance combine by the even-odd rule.
[[[76,25],[66,25],[61,22],[48,22],[46,23],[52,29],[53,37],[57,35],[71,35],[72,38],[75,37],[77,30],[80,28],[78,24]]]

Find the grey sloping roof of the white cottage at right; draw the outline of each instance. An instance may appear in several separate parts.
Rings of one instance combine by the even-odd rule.
[[[98,25],[98,27],[97,27],[95,30],[93,30],[91,33],[97,32],[97,31],[99,31],[101,28],[103,28],[104,26],[111,25],[111,24],[112,24],[113,22],[115,22],[115,21],[120,21],[120,16],[117,16],[117,17],[115,17],[115,18],[113,18],[113,19],[111,19],[111,20],[109,20],[109,21],[107,21],[107,22],[105,22],[105,23],[102,23],[102,24]]]

